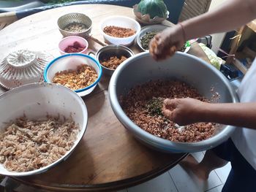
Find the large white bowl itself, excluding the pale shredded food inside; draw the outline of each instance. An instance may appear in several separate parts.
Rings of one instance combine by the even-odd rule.
[[[0,174],[21,177],[46,172],[51,167],[66,160],[72,151],[75,150],[75,147],[86,132],[88,122],[86,104],[74,91],[62,85],[35,82],[14,88],[1,94],[0,109],[2,110],[0,115],[1,134],[4,132],[7,122],[20,118],[23,115],[26,115],[26,118],[29,120],[43,119],[46,118],[46,115],[54,117],[60,115],[60,118],[69,118],[72,115],[72,119],[80,126],[80,131],[74,145],[57,161],[29,172],[10,172],[0,164]]]

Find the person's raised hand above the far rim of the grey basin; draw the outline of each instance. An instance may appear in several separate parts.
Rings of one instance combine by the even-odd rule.
[[[181,50],[185,40],[181,25],[169,27],[151,39],[149,52],[155,60],[163,60],[173,55],[176,50]]]

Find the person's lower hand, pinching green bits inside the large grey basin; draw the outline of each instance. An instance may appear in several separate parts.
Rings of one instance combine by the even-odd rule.
[[[162,113],[179,126],[200,122],[206,102],[197,99],[165,99]]]

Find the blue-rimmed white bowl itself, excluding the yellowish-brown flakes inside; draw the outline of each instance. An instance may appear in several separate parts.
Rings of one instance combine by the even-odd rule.
[[[89,55],[84,55],[81,53],[70,53],[66,55],[61,55],[58,58],[53,59],[53,61],[50,61],[50,63],[45,67],[45,82],[52,82],[53,77],[57,72],[69,69],[75,70],[81,64],[92,66],[98,74],[98,78],[94,81],[94,83],[87,86],[86,88],[75,90],[75,92],[78,93],[79,96],[86,96],[94,91],[94,88],[102,77],[102,66],[99,64],[99,61],[95,60]]]

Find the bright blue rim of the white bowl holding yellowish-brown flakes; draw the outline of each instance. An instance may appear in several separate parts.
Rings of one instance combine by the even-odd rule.
[[[97,61],[96,59],[92,58],[89,55],[85,55],[85,54],[82,54],[82,53],[69,53],[69,54],[66,54],[66,55],[61,55],[58,58],[54,58],[53,61],[50,61],[50,63],[45,67],[45,71],[44,71],[45,82],[50,82],[48,80],[47,73],[48,73],[48,69],[50,68],[51,65],[53,65],[56,61],[58,61],[61,58],[65,58],[65,57],[69,57],[69,56],[75,56],[75,55],[82,56],[82,57],[85,57],[85,58],[89,58],[92,61],[94,61],[94,63],[97,64],[97,66],[99,67],[99,74],[98,74],[97,80],[95,80],[94,83],[92,83],[91,85],[87,86],[86,88],[81,88],[81,89],[75,90],[75,92],[76,93],[80,93],[82,91],[86,91],[89,88],[94,87],[94,85],[97,85],[97,83],[99,82],[100,78],[102,77],[102,66],[99,64],[99,61]]]

